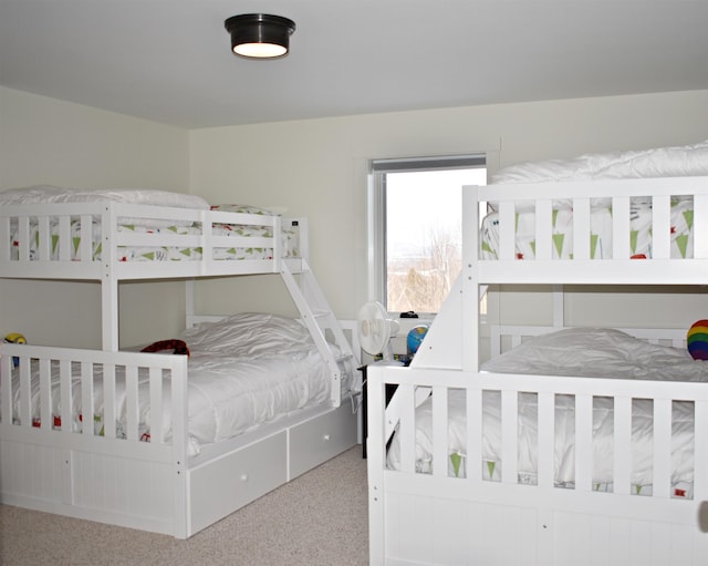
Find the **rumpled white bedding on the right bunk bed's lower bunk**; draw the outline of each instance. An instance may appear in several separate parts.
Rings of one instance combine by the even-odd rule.
[[[494,373],[568,375],[620,379],[660,379],[708,381],[708,366],[695,361],[685,350],[649,344],[611,329],[568,329],[531,339],[483,364]],[[568,378],[573,379],[573,378]],[[538,395],[519,393],[518,400],[518,482],[535,484],[538,470]],[[482,392],[482,461],[467,460],[466,391],[448,391],[447,475],[464,477],[480,474],[483,480],[500,481],[501,392]],[[671,407],[671,495],[693,497],[694,404],[674,401]],[[433,403],[429,397],[415,415],[415,467],[431,473]],[[555,395],[554,484],[572,487],[575,478],[575,400]],[[593,399],[592,481],[595,491],[613,491],[613,399]],[[653,404],[632,401],[633,493],[650,495],[653,484]],[[394,433],[387,451],[387,466],[400,469],[399,436]]]

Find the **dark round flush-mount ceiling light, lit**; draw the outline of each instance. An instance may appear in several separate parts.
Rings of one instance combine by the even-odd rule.
[[[290,50],[290,35],[295,22],[280,16],[243,13],[223,22],[231,34],[233,53],[248,59],[285,56]]]

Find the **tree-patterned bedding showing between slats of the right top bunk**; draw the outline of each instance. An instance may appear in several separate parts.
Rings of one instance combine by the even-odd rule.
[[[560,206],[553,209],[553,259],[573,257],[573,209]],[[517,259],[535,256],[535,213],[521,208],[516,215]],[[691,198],[671,202],[671,258],[690,258],[694,254],[694,208]],[[612,207],[600,203],[591,208],[591,259],[612,258]],[[633,199],[631,205],[629,241],[634,259],[652,257],[652,205]],[[492,212],[482,219],[481,258],[499,257],[499,214]]]

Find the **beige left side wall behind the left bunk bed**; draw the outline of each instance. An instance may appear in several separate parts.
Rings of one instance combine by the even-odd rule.
[[[184,130],[0,88],[0,189],[50,184],[188,192],[188,151]],[[175,282],[122,285],[122,341],[169,338],[180,329],[183,289]],[[0,280],[0,336],[19,331],[33,343],[101,346],[97,284]]]

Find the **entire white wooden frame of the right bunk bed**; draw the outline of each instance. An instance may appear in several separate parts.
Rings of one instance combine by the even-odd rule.
[[[694,199],[694,255],[670,258],[670,197]],[[629,259],[633,196],[652,196],[650,259]],[[591,198],[612,199],[611,259],[590,257]],[[554,199],[572,198],[573,259],[552,258]],[[514,253],[517,203],[533,200],[535,258]],[[500,254],[479,258],[479,203],[498,203]],[[623,379],[492,374],[479,371],[479,297],[486,285],[705,285],[708,274],[708,177],[616,179],[464,187],[462,270],[410,368],[368,368],[368,481],[372,565],[705,565],[708,564],[708,385]],[[556,320],[554,318],[554,320]],[[561,319],[562,325],[562,319]],[[652,340],[660,337],[650,336]],[[675,333],[666,337],[671,343]],[[513,340],[521,340],[514,338]],[[385,407],[386,384],[398,390]],[[447,466],[415,472],[416,407],[433,395],[433,462],[447,462],[450,389],[466,391],[466,478]],[[482,392],[502,398],[500,482],[481,476]],[[538,484],[517,478],[519,393],[538,395]],[[575,485],[553,482],[554,395],[575,399]],[[612,493],[592,487],[593,398],[614,401]],[[653,494],[631,493],[632,400],[654,411]],[[694,496],[670,496],[673,401],[694,404]],[[402,470],[386,467],[392,432]],[[543,457],[545,454],[545,457]],[[479,469],[476,466],[479,465]],[[479,473],[475,472],[479,470]]]

